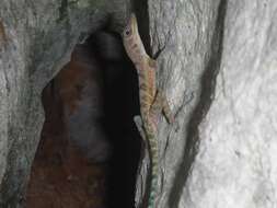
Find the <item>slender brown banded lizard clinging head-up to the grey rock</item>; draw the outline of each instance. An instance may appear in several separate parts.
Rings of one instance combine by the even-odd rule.
[[[149,187],[148,208],[154,208],[159,174],[157,119],[163,113],[168,122],[172,124],[174,117],[162,90],[158,89],[155,80],[157,61],[146,53],[134,13],[130,14],[130,19],[123,30],[122,37],[125,50],[138,73],[140,116],[135,116],[134,120],[147,145],[150,155],[151,183]]]

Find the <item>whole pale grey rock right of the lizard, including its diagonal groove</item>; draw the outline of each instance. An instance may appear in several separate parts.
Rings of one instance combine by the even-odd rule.
[[[149,13],[181,126],[160,123],[157,207],[277,207],[277,2],[149,0]]]

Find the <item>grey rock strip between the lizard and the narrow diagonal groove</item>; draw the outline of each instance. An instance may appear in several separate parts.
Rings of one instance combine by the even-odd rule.
[[[159,124],[161,174],[158,181],[161,193],[158,207],[177,207],[194,158],[194,139],[187,140],[187,135],[195,137],[210,94],[207,89],[200,97],[201,82],[207,82],[209,88],[217,71],[216,46],[220,38],[217,38],[218,28],[215,31],[215,27],[218,7],[218,1],[149,1],[153,54],[164,48],[158,57],[159,84],[165,89],[176,117],[173,126],[169,126],[165,119]],[[211,48],[211,42],[215,48]],[[205,70],[208,70],[208,80],[204,79],[207,81],[201,80]],[[143,165],[139,184],[146,181],[146,170]],[[142,187],[138,185],[137,206],[145,195],[142,184]]]

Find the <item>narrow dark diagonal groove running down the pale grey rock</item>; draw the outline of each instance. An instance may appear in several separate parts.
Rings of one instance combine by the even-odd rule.
[[[199,102],[195,107],[187,127],[187,141],[184,150],[183,162],[181,163],[173,182],[169,207],[176,208],[181,200],[183,188],[186,184],[191,166],[198,151],[198,126],[210,108],[216,88],[216,78],[220,69],[223,28],[228,0],[221,0],[218,7],[218,16],[210,45],[210,56],[207,57],[207,65],[201,77],[201,93]]]

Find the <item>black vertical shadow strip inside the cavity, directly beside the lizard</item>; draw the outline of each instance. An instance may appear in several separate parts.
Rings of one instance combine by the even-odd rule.
[[[103,36],[103,34],[101,34]],[[118,34],[113,34],[122,43]],[[94,39],[94,41],[93,41]],[[94,48],[101,42],[92,36]],[[113,147],[113,154],[108,164],[107,207],[135,207],[136,174],[140,158],[140,137],[132,120],[139,114],[137,73],[124,51],[118,45],[120,60],[97,58],[105,62],[104,69],[104,112],[105,130]],[[101,55],[101,51],[96,51]],[[105,54],[108,56],[108,53]]]

